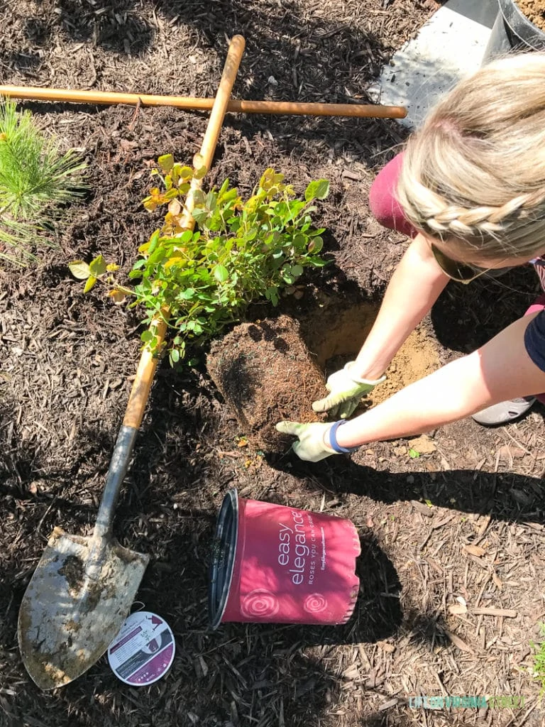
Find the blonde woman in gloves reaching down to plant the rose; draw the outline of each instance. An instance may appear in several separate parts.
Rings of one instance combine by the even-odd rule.
[[[379,221],[413,237],[355,361],[315,401],[334,423],[279,422],[312,462],[368,442],[416,435],[469,415],[520,416],[545,392],[545,296],[482,348],[355,419],[384,371],[449,280],[532,262],[545,281],[545,54],[507,57],[462,81],[371,189]],[[537,395],[545,401],[545,395]]]

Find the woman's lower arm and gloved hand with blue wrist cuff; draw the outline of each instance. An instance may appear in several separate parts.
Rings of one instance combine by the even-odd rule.
[[[528,356],[525,331],[543,313],[524,316],[468,356],[456,358],[398,391],[355,419],[335,424],[280,422],[279,432],[299,438],[294,452],[319,462],[363,444],[410,437],[437,429],[500,401],[545,391],[545,371]]]

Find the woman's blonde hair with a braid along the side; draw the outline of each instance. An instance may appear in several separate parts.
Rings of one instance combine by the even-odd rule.
[[[408,141],[397,198],[469,261],[543,252],[545,53],[496,60],[441,100]]]

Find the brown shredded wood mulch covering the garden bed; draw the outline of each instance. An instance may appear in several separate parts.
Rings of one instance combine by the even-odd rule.
[[[1,5],[4,83],[210,96],[226,36],[241,32],[248,42],[236,97],[331,102],[365,101],[392,52],[437,8],[429,0]],[[312,465],[244,440],[249,432],[206,370],[207,350],[193,368],[158,367],[116,516],[120,542],[151,556],[135,608],[173,629],[171,672],[129,688],[102,658],[64,688],[33,685],[17,649],[19,604],[52,529],[92,529],[140,355],[137,311],[113,305],[99,285],[84,295],[68,262],[102,253],[126,276],[158,225],[141,205],[150,166],[167,152],[189,161],[206,115],[25,107],[63,146],[81,149],[90,190],[67,210],[57,252],[41,251],[36,268],[0,272],[0,726],[541,725],[530,641],[545,617],[544,408],[509,427],[467,419]],[[352,319],[362,330],[371,323],[405,249],[367,204],[376,172],[404,137],[395,122],[374,119],[225,121],[207,183],[228,176],[246,194],[268,166],[300,191],[311,179],[331,182],[315,215],[328,229],[330,265],[305,273],[302,295],[278,309],[254,305],[246,321],[294,318],[307,349],[322,352],[323,374],[358,349],[363,333]],[[527,268],[448,286],[388,372],[389,385],[473,350],[536,292]],[[360,318],[345,316],[353,304]],[[323,317],[309,332],[315,310]],[[294,415],[310,412],[312,396],[303,387],[296,394]],[[361,587],[350,622],[209,630],[214,522],[233,486],[243,497],[355,523]],[[419,694],[523,695],[526,703],[424,712],[408,704]]]

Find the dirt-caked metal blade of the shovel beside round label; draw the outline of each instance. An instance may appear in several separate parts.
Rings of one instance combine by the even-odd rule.
[[[86,577],[91,538],[53,531],[19,610],[23,662],[41,689],[81,676],[121,629],[149,556],[111,541],[93,580]]]

